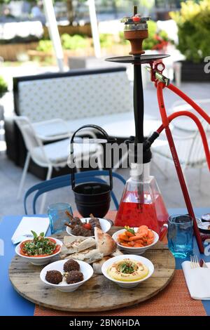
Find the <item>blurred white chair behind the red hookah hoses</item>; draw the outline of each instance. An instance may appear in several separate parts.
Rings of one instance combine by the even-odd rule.
[[[209,124],[207,123],[207,121],[202,121],[202,125],[208,138]],[[178,130],[176,130],[176,133],[177,131]],[[186,131],[185,135],[183,135],[184,132],[182,130],[180,130],[179,132],[180,135],[178,136],[173,134],[173,138],[174,143],[176,145],[176,151],[179,156],[179,161],[181,163],[182,171],[184,173],[189,168],[200,169],[201,183],[202,169],[207,166],[207,159],[204,152],[200,132],[197,130],[195,131],[195,133],[187,133]],[[157,155],[158,157],[160,157],[160,159],[166,161],[165,166],[167,166],[168,162],[173,162],[172,154],[169,149],[167,140],[156,140],[155,143],[153,143],[153,145],[151,146],[151,149],[154,155]],[[155,164],[157,164],[155,159],[153,160]],[[167,171],[162,171],[162,173],[164,173],[165,177],[168,178]]]

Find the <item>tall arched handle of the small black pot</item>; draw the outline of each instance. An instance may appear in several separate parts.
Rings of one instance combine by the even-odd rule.
[[[100,133],[102,133],[102,136],[104,136],[104,138],[106,138],[107,142],[113,143],[113,138],[110,138],[109,137],[109,135],[106,133],[106,131],[104,131],[104,128],[102,128],[100,126],[97,126],[97,125],[93,125],[93,124],[83,125],[80,128],[78,128],[73,133],[73,136],[71,136],[71,155],[73,155],[73,141],[74,141],[74,138],[76,136],[76,133],[78,133],[78,131],[82,130],[83,128],[94,128],[94,129],[97,129],[97,131],[99,131]],[[112,188],[113,188],[113,176],[112,176],[111,168],[109,168],[109,186],[110,186],[110,190],[112,190]],[[72,173],[71,173],[71,187],[72,187],[72,189],[75,187],[75,173],[74,173],[74,168],[72,169]]]

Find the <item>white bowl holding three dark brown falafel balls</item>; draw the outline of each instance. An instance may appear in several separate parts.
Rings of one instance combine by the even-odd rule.
[[[93,269],[89,265],[89,263],[85,263],[84,261],[76,260],[80,264],[80,272],[83,273],[83,277],[84,277],[83,281],[78,282],[78,283],[73,283],[73,284],[67,284],[64,281],[59,284],[52,284],[45,280],[45,276],[46,276],[46,273],[48,272],[48,270],[58,270],[59,272],[61,272],[63,274],[64,273],[64,263],[66,263],[66,261],[68,261],[68,260],[58,260],[58,261],[55,261],[55,263],[50,263],[50,265],[45,266],[45,268],[43,268],[43,270],[40,273],[40,278],[41,278],[42,282],[44,282],[48,286],[52,286],[52,288],[55,288],[59,291],[72,292],[72,291],[75,291],[76,289],[78,289],[78,287],[80,285],[82,285],[88,279],[90,279],[90,277],[92,277]]]

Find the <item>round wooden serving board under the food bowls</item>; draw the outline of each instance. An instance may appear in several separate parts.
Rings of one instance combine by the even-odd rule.
[[[111,227],[110,234],[119,230]],[[66,232],[54,235],[62,239]],[[52,235],[53,236],[53,235]],[[143,255],[150,259],[155,272],[152,277],[133,289],[123,289],[106,279],[104,275],[93,275],[76,291],[65,293],[46,286],[39,277],[43,266],[31,265],[24,258],[15,256],[10,264],[9,277],[21,296],[37,305],[69,312],[99,312],[114,310],[146,301],[169,284],[175,270],[175,259],[165,244],[158,242]],[[55,257],[55,260],[59,257]]]

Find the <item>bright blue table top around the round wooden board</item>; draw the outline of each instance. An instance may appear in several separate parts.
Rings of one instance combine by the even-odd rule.
[[[186,213],[186,209],[169,209],[169,214]],[[202,216],[204,213],[209,213],[209,209],[195,209],[196,216]],[[37,215],[40,216],[40,215]],[[45,217],[45,215],[42,215]],[[22,216],[5,216],[0,223],[0,315],[8,316],[31,316],[34,315],[34,303],[30,303],[25,298],[22,298],[13,286],[10,284],[8,277],[8,268],[10,261],[15,256],[15,246],[11,242],[11,237],[18,227]],[[50,235],[50,229],[47,235]],[[205,261],[210,261],[210,256],[200,255],[197,244],[194,244],[195,255],[203,258]],[[210,254],[210,247],[209,247]],[[183,259],[176,259],[176,269],[181,269]],[[210,316],[210,301],[202,301],[207,315]]]

